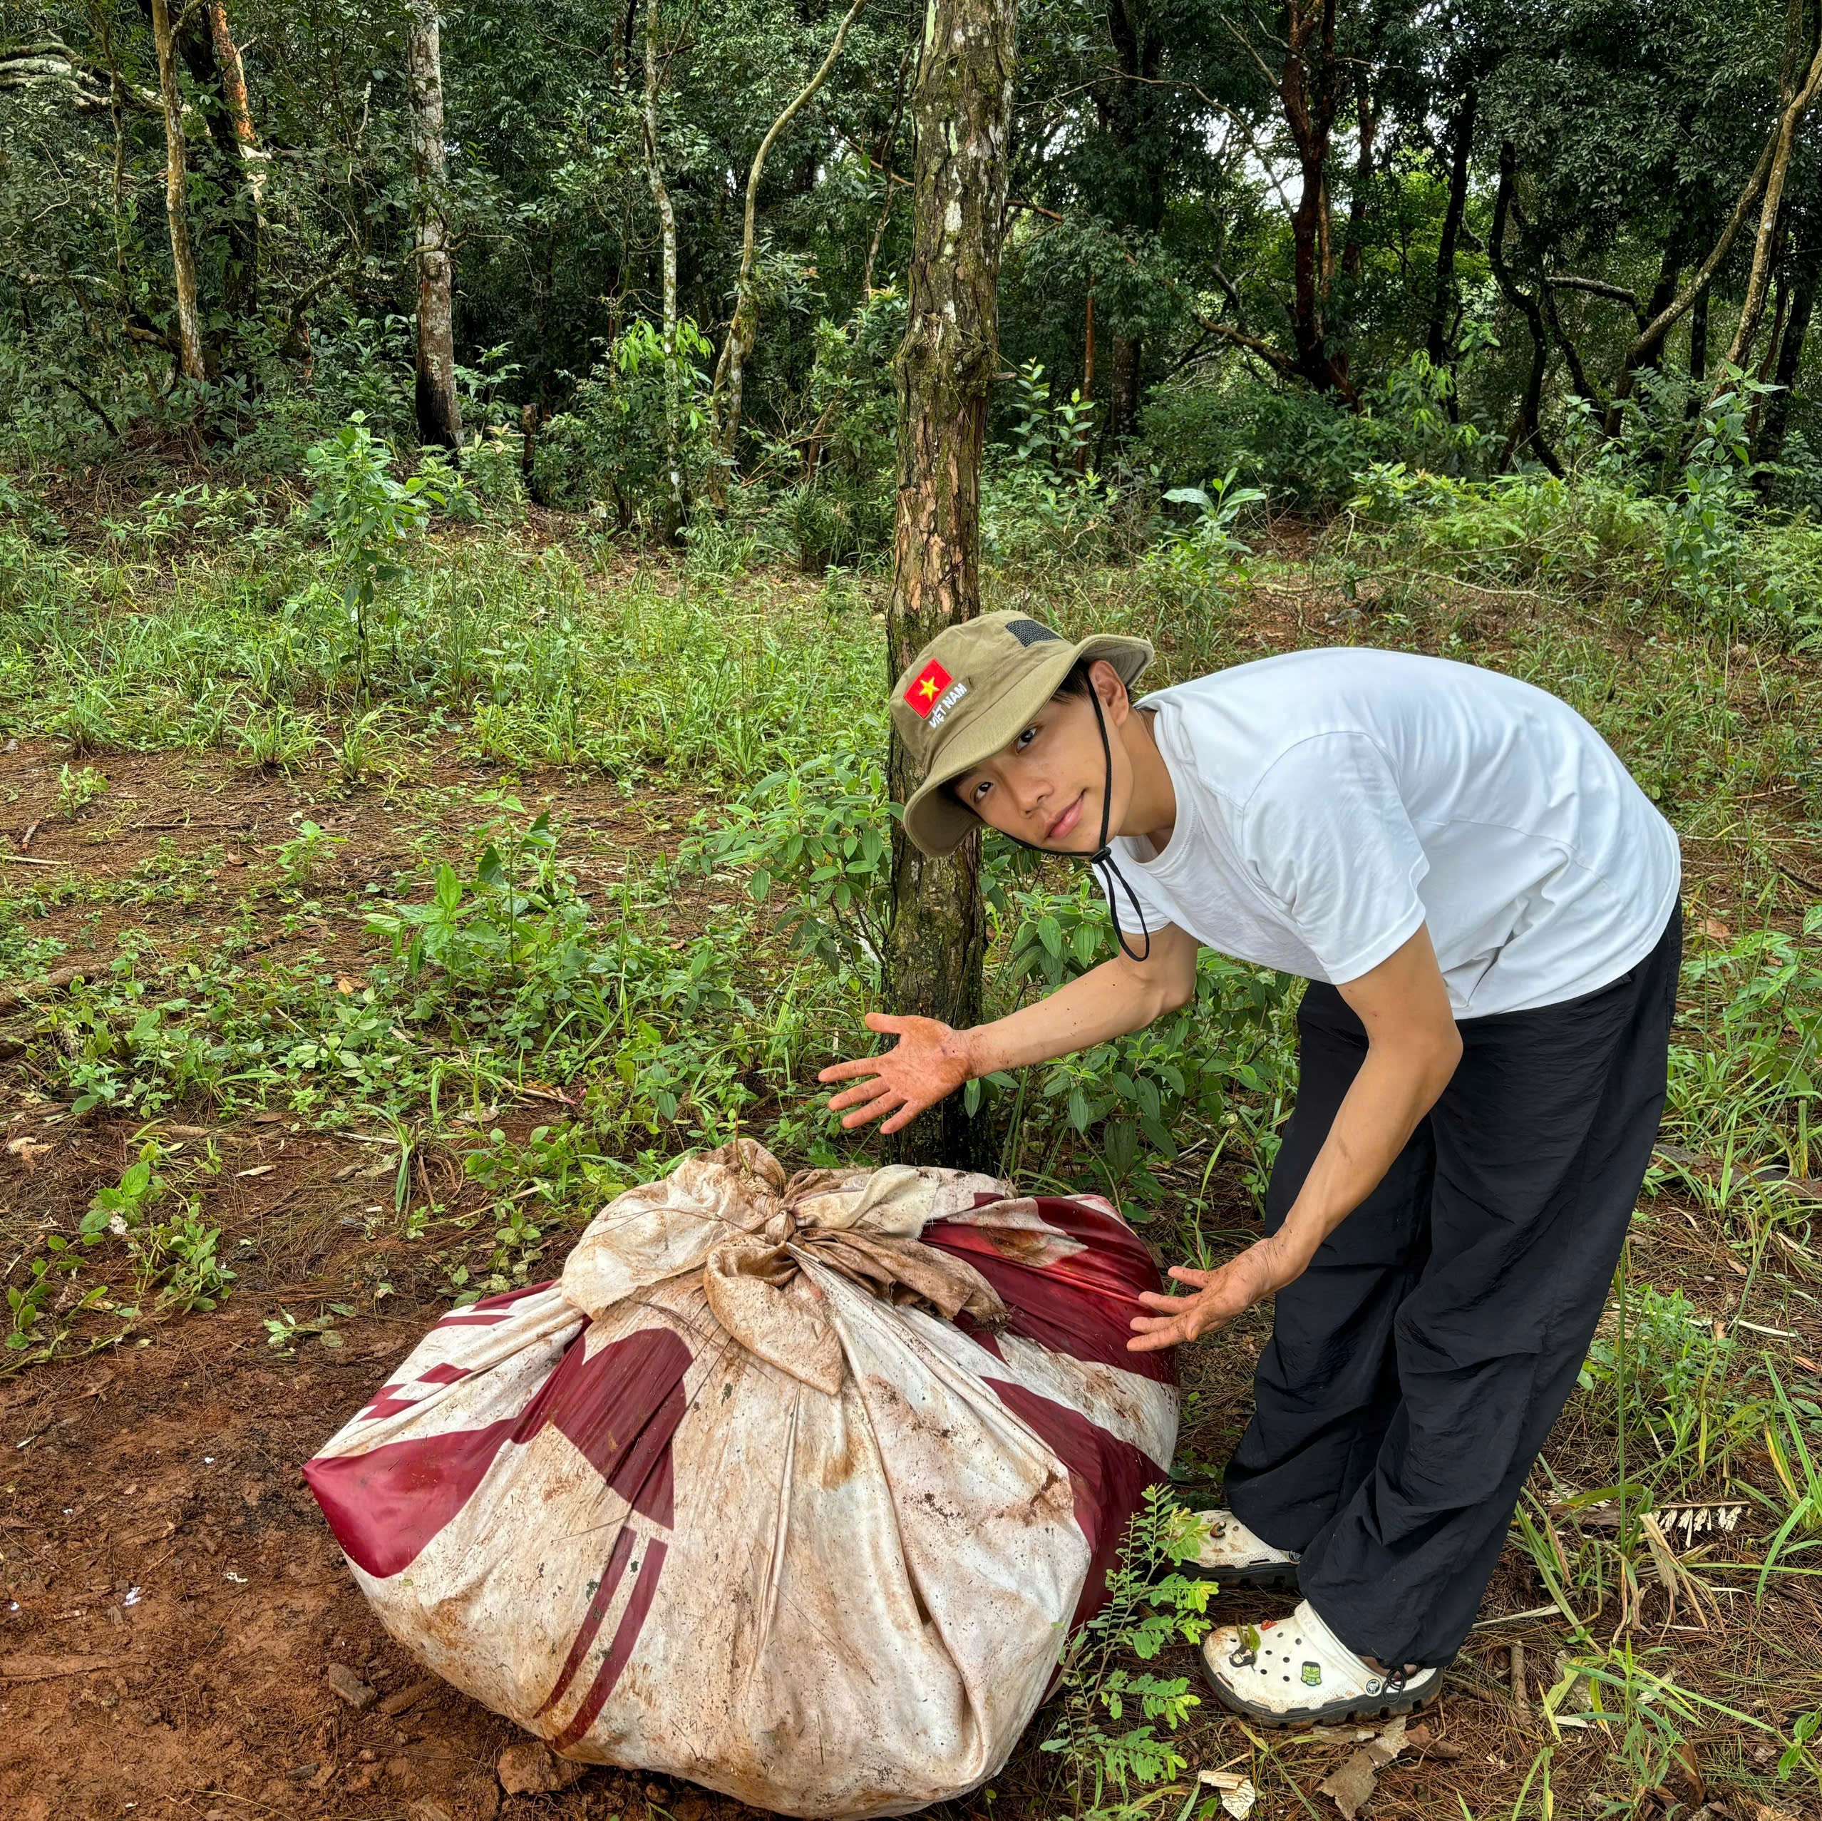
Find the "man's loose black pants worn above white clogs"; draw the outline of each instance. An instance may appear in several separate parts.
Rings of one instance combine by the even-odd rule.
[[[1279,1291],[1235,1517],[1297,1549],[1356,1653],[1447,1662],[1605,1307],[1663,1108],[1682,913],[1611,986],[1465,1019],[1461,1063],[1385,1181]],[[1332,986],[1297,1013],[1275,1232],[1366,1055]]]

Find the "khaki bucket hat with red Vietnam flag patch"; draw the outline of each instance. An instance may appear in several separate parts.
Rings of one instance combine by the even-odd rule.
[[[918,769],[906,833],[938,859],[978,826],[944,784],[1002,753],[1080,662],[1106,658],[1130,689],[1152,645],[1121,633],[1070,643],[1039,620],[989,612],[938,633],[893,684],[893,727]]]

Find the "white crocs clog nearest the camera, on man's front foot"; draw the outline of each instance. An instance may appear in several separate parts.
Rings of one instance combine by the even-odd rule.
[[[1372,1668],[1308,1600],[1288,1619],[1210,1631],[1203,1672],[1223,1706],[1261,1726],[1390,1719],[1421,1708],[1443,1681],[1441,1664],[1412,1675]]]

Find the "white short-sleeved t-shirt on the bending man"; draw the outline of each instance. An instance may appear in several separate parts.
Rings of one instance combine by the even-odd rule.
[[[1498,671],[1297,651],[1141,707],[1177,824],[1113,853],[1150,928],[1346,983],[1428,922],[1459,1019],[1607,986],[1676,904],[1669,822],[1574,709]],[[1137,937],[1122,891],[1113,911]]]

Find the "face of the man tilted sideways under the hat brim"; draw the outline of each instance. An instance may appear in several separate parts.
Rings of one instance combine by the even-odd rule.
[[[1106,671],[1115,700],[1100,682]],[[1113,751],[1113,813],[1108,829],[1121,828],[1131,795],[1131,764],[1117,727],[1126,720],[1126,691],[1111,665],[1097,664],[1100,713]],[[955,795],[989,828],[1017,835],[1035,848],[1093,853],[1100,837],[1100,798],[1108,764],[1088,696],[1051,696],[1011,746],[955,780]]]

